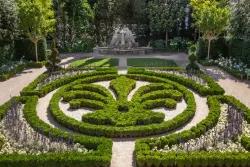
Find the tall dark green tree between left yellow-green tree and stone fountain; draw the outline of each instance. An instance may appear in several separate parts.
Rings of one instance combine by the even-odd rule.
[[[87,0],[53,0],[59,48],[71,51],[78,41],[89,36],[93,11]]]

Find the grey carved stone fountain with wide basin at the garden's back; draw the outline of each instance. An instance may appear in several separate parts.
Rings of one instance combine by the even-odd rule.
[[[94,53],[99,55],[145,55],[153,52],[151,47],[139,47],[135,42],[135,35],[129,28],[117,28],[107,47],[96,47]]]

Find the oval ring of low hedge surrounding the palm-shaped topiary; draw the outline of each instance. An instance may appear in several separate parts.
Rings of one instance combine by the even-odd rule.
[[[129,78],[134,77],[134,78],[138,79],[140,77],[140,75],[128,75],[128,77]],[[148,136],[148,135],[168,132],[168,131],[174,130],[174,129],[182,126],[183,124],[188,122],[194,116],[194,113],[196,110],[194,96],[184,86],[179,85],[178,83],[163,79],[163,78],[157,78],[157,77],[151,77],[151,76],[143,76],[143,77],[144,77],[143,79],[146,78],[148,81],[151,81],[151,82],[158,81],[158,82],[162,82],[162,83],[171,84],[175,89],[177,89],[178,91],[183,93],[184,99],[188,103],[188,106],[184,110],[184,112],[179,114],[174,119],[164,121],[160,124],[150,124],[147,126],[127,126],[126,124],[119,124],[118,123],[116,126],[120,126],[120,127],[98,125],[98,124],[106,124],[107,119],[103,118],[102,115],[100,115],[101,112],[98,113],[97,111],[95,111],[94,113],[98,113],[97,115],[99,116],[100,119],[98,119],[96,121],[91,119],[91,122],[93,121],[97,125],[93,125],[93,124],[89,124],[89,123],[85,123],[85,122],[79,122],[73,118],[66,116],[60,110],[59,104],[58,104],[62,95],[64,94],[64,92],[68,91],[73,85],[77,85],[79,83],[85,84],[85,83],[92,83],[92,82],[96,82],[96,81],[100,81],[100,80],[107,80],[107,78],[105,78],[105,76],[100,75],[100,76],[89,77],[89,78],[85,78],[85,79],[81,79],[81,80],[76,80],[75,82],[73,82],[69,85],[66,85],[66,86],[62,87],[61,89],[59,89],[54,94],[54,96],[52,97],[52,99],[50,101],[51,114],[57,120],[57,122],[59,122],[60,124],[70,128],[70,129],[73,129],[77,132],[89,134],[89,135],[95,135],[95,136],[106,136],[106,137],[138,137],[138,136]],[[111,105],[112,105],[112,103],[111,103]],[[117,104],[115,106],[121,106],[121,105],[124,105],[123,107],[126,107],[126,103],[125,104],[122,103],[120,105]],[[143,107],[139,103],[137,105],[140,107]],[[110,106],[107,106],[107,107],[110,107]],[[112,109],[112,106],[111,106],[111,109]],[[113,108],[111,111],[116,111],[116,110],[117,110],[117,108]],[[136,110],[136,111],[138,111],[138,110]],[[86,115],[88,116],[88,114],[86,114]],[[84,116],[85,118],[86,118],[86,115]],[[84,121],[87,121],[87,122],[90,121],[90,120],[86,120],[85,118],[83,119]],[[159,118],[157,118],[157,117],[153,118],[154,121],[157,121],[158,119]],[[150,122],[148,122],[149,120],[147,120],[146,122],[145,121],[146,120],[144,120],[140,123],[141,124],[150,123]],[[110,124],[110,122],[109,122],[109,124]],[[123,127],[123,126],[125,126],[125,127]]]

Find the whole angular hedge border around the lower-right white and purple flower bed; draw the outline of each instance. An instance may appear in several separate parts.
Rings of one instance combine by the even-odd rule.
[[[181,137],[182,142],[187,142],[191,138],[197,138],[203,135],[209,128],[213,128],[218,122],[220,115],[220,102],[234,105],[238,109],[244,111],[245,119],[250,121],[250,110],[243,105],[239,100],[232,96],[209,96],[209,114],[200,123],[192,127],[190,130],[185,130],[179,134],[170,134],[160,139],[139,139],[136,141],[136,161],[140,167],[144,166],[232,166],[239,164],[247,166],[250,162],[249,153],[208,153],[208,152],[191,152],[191,153],[173,153],[173,152],[159,152],[151,151],[157,147],[158,149],[164,148],[166,145],[172,146],[178,144],[178,138]],[[209,126],[208,126],[209,125]],[[250,139],[243,137],[241,140],[242,145],[248,149],[250,148]],[[235,156],[234,156],[235,155]]]

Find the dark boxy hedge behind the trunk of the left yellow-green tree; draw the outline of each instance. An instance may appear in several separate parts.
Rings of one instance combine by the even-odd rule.
[[[46,60],[47,57],[46,49],[47,49],[46,40],[45,39],[40,40],[38,42],[39,61]],[[14,58],[16,60],[20,60],[21,57],[24,57],[25,60],[36,61],[35,45],[27,38],[18,38],[15,40]]]

